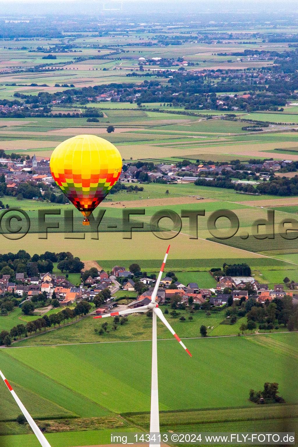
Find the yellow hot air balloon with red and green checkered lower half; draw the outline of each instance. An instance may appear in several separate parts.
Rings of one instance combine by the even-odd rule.
[[[109,141],[95,135],[77,135],[60,143],[50,157],[50,172],[71,203],[88,216],[118,180],[121,155]]]

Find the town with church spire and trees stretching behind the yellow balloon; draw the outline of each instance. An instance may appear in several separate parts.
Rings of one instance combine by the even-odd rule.
[[[0,153],[0,193],[18,200],[36,199],[67,203],[50,173],[49,157]],[[209,162],[181,160],[175,164],[153,161],[123,162],[122,173],[111,194],[119,190],[142,191],[132,183],[194,183],[197,186],[214,186],[234,189],[245,194],[295,195],[298,194],[298,176],[287,178],[283,173],[297,172],[298,162],[293,160],[251,159],[248,162],[232,160]],[[137,189],[136,189],[137,188]],[[199,193],[199,191],[198,191]],[[167,193],[168,194],[168,193]],[[111,200],[111,198],[109,198]]]

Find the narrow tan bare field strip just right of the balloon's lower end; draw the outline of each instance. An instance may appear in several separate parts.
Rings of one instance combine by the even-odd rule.
[[[196,197],[165,197],[165,198],[148,198],[143,200],[123,200],[122,202],[104,202],[102,205],[104,207],[112,207],[112,208],[124,208],[124,207],[141,208],[141,207],[160,207],[166,205],[184,205],[186,203],[200,204],[205,202],[214,202],[214,200],[211,198],[197,200]]]

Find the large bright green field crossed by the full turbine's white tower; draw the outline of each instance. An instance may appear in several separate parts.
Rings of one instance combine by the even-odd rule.
[[[248,401],[249,390],[261,389],[264,381],[277,382],[285,401],[297,403],[293,377],[298,356],[292,346],[297,337],[296,333],[286,333],[187,340],[192,358],[175,340],[159,341],[159,377],[167,378],[159,380],[160,409],[254,407]],[[10,348],[4,353],[1,350],[1,354],[10,358],[10,363],[21,362],[23,368],[26,365],[32,368],[30,371],[38,371],[37,377],[45,375],[107,410],[119,413],[150,409],[151,342]],[[266,360],[256,361],[260,358]],[[15,382],[17,377],[18,382],[25,381],[24,370],[23,375],[18,369],[4,373],[8,380],[13,375]],[[214,375],[228,376],[229,380],[224,387],[217,387]],[[142,381],[136,377],[142,377]],[[113,383],[113,387],[107,391],[96,385],[104,383]]]

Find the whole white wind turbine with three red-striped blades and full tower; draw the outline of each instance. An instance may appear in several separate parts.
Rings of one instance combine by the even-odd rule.
[[[159,405],[158,405],[158,375],[157,375],[157,333],[156,333],[156,316],[164,323],[164,325],[168,328],[168,330],[173,334],[176,340],[180,343],[183,349],[192,357],[189,350],[186,346],[181,342],[178,335],[175,333],[174,329],[169,325],[168,321],[164,318],[163,312],[158,307],[158,304],[155,303],[156,294],[158,291],[159,283],[164,271],[164,265],[166,263],[168,252],[170,249],[170,245],[168,246],[167,253],[164,257],[164,262],[160,268],[160,272],[158,278],[156,280],[156,284],[151,295],[151,303],[147,304],[147,306],[142,306],[135,309],[127,309],[122,310],[120,312],[111,312],[105,315],[94,316],[93,318],[104,318],[106,316],[116,316],[116,315],[126,315],[128,313],[137,313],[137,312],[147,312],[148,310],[152,310],[152,370],[151,370],[151,411],[150,411],[150,433],[159,433]],[[149,447],[158,447],[159,443],[150,443]]]

